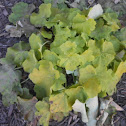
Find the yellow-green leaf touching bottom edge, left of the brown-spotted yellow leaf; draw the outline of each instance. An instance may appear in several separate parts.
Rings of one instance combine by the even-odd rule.
[[[49,126],[51,113],[48,98],[45,98],[42,101],[38,101],[35,107],[37,109],[35,115],[40,116],[39,124],[43,126]]]

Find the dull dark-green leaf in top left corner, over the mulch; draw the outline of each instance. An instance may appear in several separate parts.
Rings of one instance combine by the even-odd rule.
[[[27,3],[19,2],[12,8],[13,13],[9,16],[9,21],[16,24],[23,17],[30,15],[34,9],[35,6],[33,4],[28,5]]]

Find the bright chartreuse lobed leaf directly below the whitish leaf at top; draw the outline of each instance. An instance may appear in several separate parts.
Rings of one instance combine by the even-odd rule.
[[[94,19],[86,20],[84,15],[77,14],[73,19],[72,28],[78,33],[84,33],[90,35],[90,33],[95,29],[96,22]]]

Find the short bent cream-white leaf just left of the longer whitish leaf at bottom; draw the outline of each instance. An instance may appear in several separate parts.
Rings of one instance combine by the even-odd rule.
[[[80,112],[82,115],[82,121],[88,122],[86,109],[85,109],[85,103],[81,103],[78,99],[76,99],[75,103],[72,106],[73,110],[75,112]]]

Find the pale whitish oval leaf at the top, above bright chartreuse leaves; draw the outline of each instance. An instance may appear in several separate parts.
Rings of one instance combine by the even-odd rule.
[[[103,14],[103,9],[100,4],[95,5],[88,14],[89,18],[96,19],[97,17],[101,16]]]

